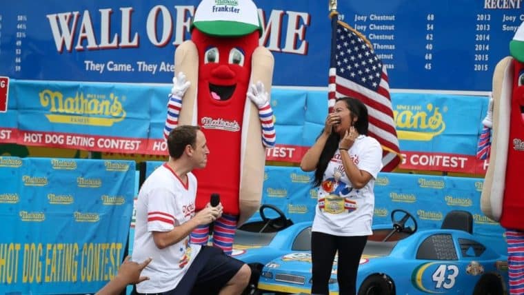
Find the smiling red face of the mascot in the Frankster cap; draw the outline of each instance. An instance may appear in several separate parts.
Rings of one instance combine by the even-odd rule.
[[[191,39],[199,51],[198,99],[219,105],[244,103],[259,32],[236,38],[212,37],[194,28]]]

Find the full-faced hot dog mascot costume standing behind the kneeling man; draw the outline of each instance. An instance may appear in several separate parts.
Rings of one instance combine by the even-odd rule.
[[[208,164],[194,170],[196,211],[219,194],[222,217],[213,245],[232,252],[236,227],[259,209],[265,148],[275,143],[269,93],[274,59],[259,45],[261,24],[251,0],[203,0],[191,40],[174,54],[173,88],[164,136],[179,124],[199,125],[208,141]],[[209,227],[197,227],[192,243],[207,244]]]

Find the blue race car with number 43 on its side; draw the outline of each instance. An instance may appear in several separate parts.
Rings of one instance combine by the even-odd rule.
[[[399,214],[404,216],[396,218]],[[356,282],[359,295],[505,294],[507,256],[472,235],[470,212],[452,211],[440,229],[421,231],[409,212],[394,210],[391,216],[392,230],[374,228],[368,238]],[[336,268],[335,259],[330,294],[339,291]],[[310,252],[275,258],[263,267],[257,292],[309,294],[311,269]]]

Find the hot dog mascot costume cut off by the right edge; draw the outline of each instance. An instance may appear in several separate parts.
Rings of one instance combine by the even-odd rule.
[[[492,143],[481,209],[506,229],[510,292],[524,294],[524,23],[510,41],[510,54],[493,74]]]

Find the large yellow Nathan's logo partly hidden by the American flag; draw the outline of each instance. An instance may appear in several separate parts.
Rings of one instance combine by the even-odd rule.
[[[399,139],[430,141],[446,128],[439,108],[432,103],[428,103],[425,110],[421,105],[396,105],[393,116]]]

